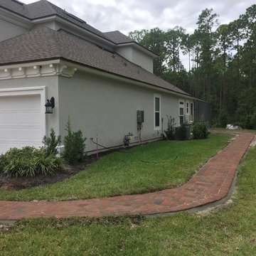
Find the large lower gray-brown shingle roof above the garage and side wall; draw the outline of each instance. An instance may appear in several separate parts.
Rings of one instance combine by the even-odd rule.
[[[116,53],[63,30],[41,27],[0,42],[0,65],[64,59],[188,95]]]

